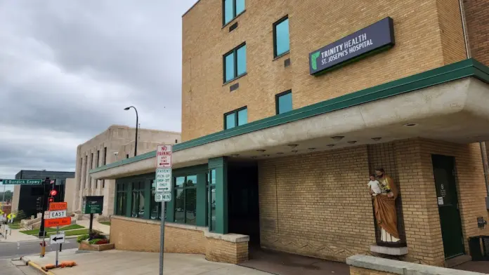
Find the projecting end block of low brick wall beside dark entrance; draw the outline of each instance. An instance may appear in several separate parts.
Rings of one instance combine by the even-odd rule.
[[[231,243],[207,238],[205,258],[212,262],[239,264],[248,260],[248,242]]]

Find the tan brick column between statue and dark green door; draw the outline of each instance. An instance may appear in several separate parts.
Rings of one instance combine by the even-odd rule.
[[[436,205],[431,158],[422,154],[421,140],[396,142],[398,180],[403,187],[403,214],[408,257],[443,266],[443,240]]]

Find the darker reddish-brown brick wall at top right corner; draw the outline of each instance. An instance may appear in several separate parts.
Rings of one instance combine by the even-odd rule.
[[[464,0],[472,58],[489,66],[489,1]]]

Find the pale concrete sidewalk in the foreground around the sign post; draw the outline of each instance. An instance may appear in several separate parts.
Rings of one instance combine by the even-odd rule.
[[[52,269],[56,275],[143,275],[158,274],[159,253],[107,250],[103,252],[75,253],[76,249],[60,253],[60,262],[74,260],[76,267]],[[46,257],[24,257],[39,266],[54,264],[56,253]],[[30,264],[32,264],[32,262]],[[34,264],[34,265],[35,265]],[[33,267],[34,268],[34,267]],[[165,253],[164,273],[172,275],[270,275],[270,273],[240,267],[235,264],[209,262],[203,255]]]

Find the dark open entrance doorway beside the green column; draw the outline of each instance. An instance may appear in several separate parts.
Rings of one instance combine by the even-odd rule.
[[[260,243],[258,165],[254,161],[228,162],[228,231]]]

